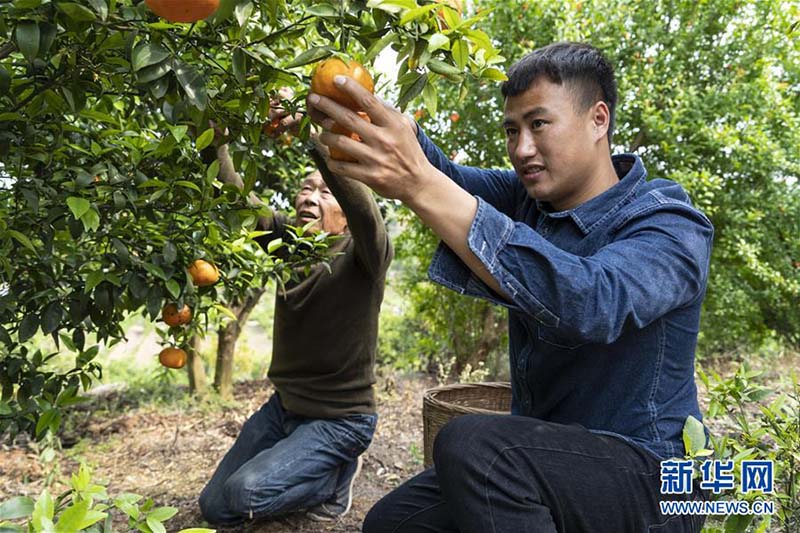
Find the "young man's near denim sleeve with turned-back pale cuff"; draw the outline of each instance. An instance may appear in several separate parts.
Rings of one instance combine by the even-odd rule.
[[[548,242],[478,199],[467,240],[511,299],[506,302],[440,244],[433,281],[486,298],[583,342],[611,343],[702,295],[713,228],[688,206],[656,204],[615,229],[612,242],[582,257]]]

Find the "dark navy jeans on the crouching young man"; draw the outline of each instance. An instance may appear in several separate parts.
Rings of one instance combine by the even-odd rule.
[[[364,533],[697,533],[665,516],[660,459],[625,440],[521,416],[467,415],[434,442],[435,468],[369,511]]]

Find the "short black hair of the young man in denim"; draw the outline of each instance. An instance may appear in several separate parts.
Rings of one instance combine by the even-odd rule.
[[[572,85],[580,111],[586,111],[600,100],[606,103],[610,113],[610,145],[616,117],[617,81],[614,69],[602,52],[590,44],[574,42],[537,48],[508,69],[508,80],[500,88],[503,97],[524,93],[542,76],[559,85]]]

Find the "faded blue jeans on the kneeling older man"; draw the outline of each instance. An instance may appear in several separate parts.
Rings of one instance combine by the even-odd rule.
[[[203,518],[234,525],[326,502],[339,474],[369,446],[377,419],[306,418],[284,410],[273,394],[245,422],[200,494]]]

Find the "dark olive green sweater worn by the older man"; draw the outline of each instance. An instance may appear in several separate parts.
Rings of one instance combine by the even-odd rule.
[[[326,169],[327,170],[327,169]],[[348,233],[333,243],[340,253],[330,271],[320,264],[275,297],[269,379],[287,411],[336,418],[375,412],[375,350],[392,246],[372,192],[323,172],[347,217]],[[276,213],[262,226],[266,245],[293,224]]]

